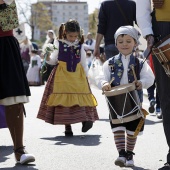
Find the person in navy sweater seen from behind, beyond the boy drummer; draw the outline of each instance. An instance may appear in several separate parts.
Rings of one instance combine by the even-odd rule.
[[[118,54],[114,34],[120,26],[133,26],[136,21],[136,4],[133,0],[107,0],[101,3],[94,56],[100,56],[100,43],[104,37],[106,58]]]

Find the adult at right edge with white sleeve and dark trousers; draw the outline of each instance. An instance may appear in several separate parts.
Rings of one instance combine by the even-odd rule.
[[[147,40],[147,46],[151,49],[154,37],[163,39],[170,34],[170,1],[153,0],[152,11],[151,0],[137,0],[137,23]],[[152,16],[150,15],[152,12]],[[170,170],[170,78],[166,75],[162,65],[153,56],[156,83],[160,98],[164,132],[168,144],[167,163],[159,170]]]

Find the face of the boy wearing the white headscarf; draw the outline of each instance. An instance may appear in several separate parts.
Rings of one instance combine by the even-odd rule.
[[[125,56],[131,54],[134,47],[137,45],[135,40],[129,35],[119,35],[116,43],[119,52]]]

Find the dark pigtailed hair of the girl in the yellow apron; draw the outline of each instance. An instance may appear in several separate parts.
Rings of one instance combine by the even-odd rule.
[[[65,39],[66,33],[69,32],[78,32],[81,44],[84,43],[84,36],[80,34],[81,32],[80,25],[76,20],[70,19],[65,24],[64,23],[61,24],[59,28],[59,39]]]

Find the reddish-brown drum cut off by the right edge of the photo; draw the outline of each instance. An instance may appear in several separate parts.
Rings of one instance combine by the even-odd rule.
[[[170,35],[160,40],[152,48],[152,52],[163,66],[166,74],[170,77]]]

